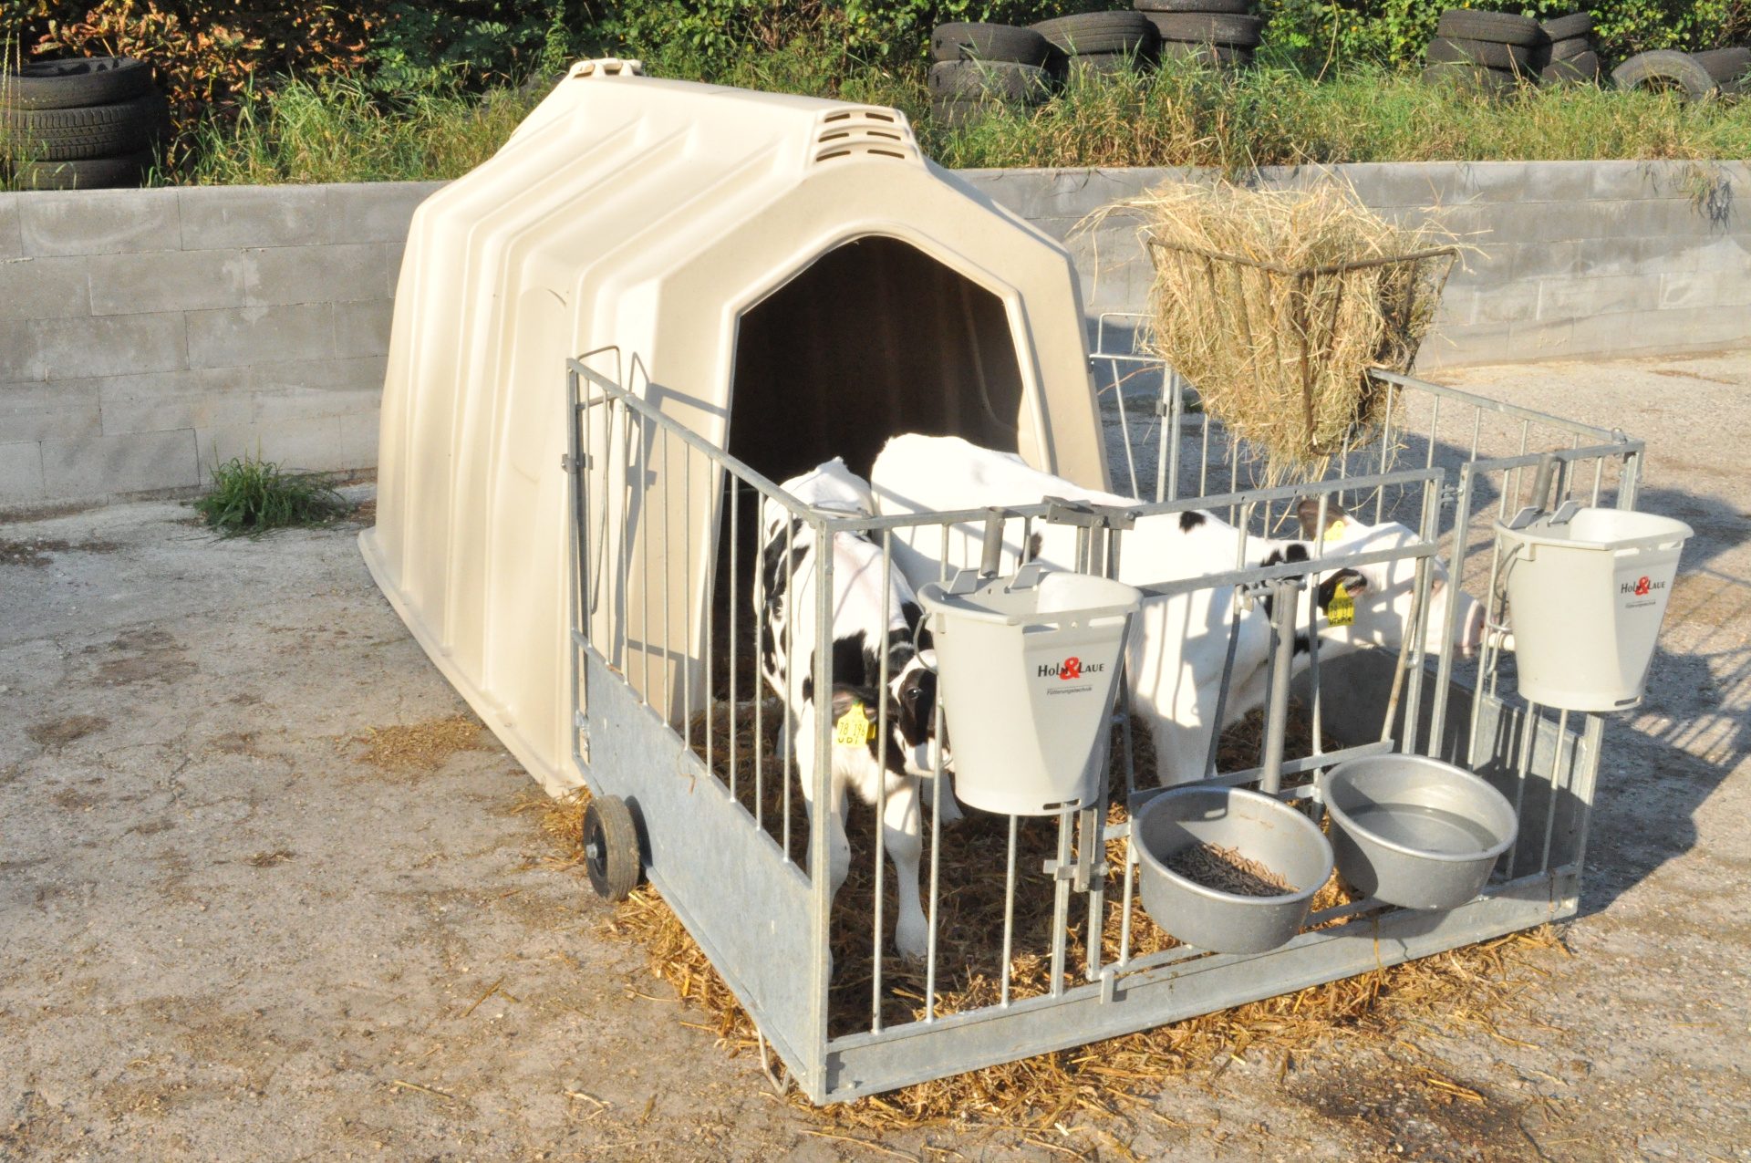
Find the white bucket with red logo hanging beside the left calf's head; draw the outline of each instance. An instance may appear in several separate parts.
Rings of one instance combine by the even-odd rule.
[[[925,585],[961,802],[1007,816],[1091,804],[1142,594],[1080,573]],[[960,590],[960,592],[956,592]]]

